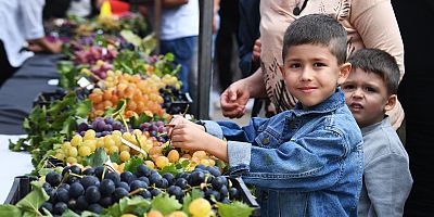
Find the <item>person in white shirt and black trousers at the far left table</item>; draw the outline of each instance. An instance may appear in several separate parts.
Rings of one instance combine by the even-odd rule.
[[[61,42],[44,38],[42,9],[44,0],[0,0],[0,86],[34,52],[61,52]]]

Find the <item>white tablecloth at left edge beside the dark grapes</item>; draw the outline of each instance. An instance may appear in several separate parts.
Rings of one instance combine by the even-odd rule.
[[[28,174],[34,168],[31,155],[25,152],[9,150],[9,139],[17,141],[25,135],[0,135],[0,203],[2,204],[11,190],[16,176]]]

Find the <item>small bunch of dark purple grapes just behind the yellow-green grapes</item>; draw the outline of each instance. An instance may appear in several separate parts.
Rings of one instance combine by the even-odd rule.
[[[113,130],[125,132],[124,125],[118,120],[114,120],[113,117],[97,117],[90,125],[87,123],[81,123],[78,125],[78,133],[81,137],[85,137],[86,131],[89,129],[94,130],[97,138],[111,135]]]

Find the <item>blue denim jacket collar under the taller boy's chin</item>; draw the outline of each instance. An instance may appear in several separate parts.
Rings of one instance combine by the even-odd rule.
[[[339,87],[329,99],[307,110],[303,110],[302,103],[297,102],[297,104],[295,104],[293,113],[295,116],[329,113],[337,110],[339,107],[342,107],[343,105],[345,105],[345,95]]]

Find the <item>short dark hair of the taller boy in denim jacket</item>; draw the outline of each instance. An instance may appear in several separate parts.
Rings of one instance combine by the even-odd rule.
[[[323,44],[336,56],[337,63],[346,61],[346,30],[333,17],[324,14],[309,14],[295,20],[283,37],[283,63],[291,46]]]

